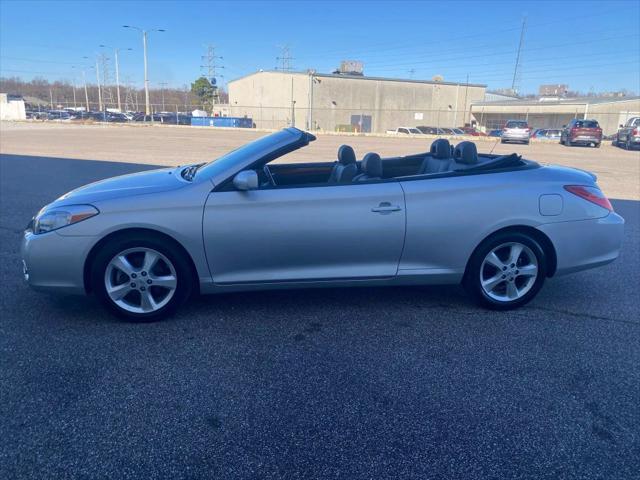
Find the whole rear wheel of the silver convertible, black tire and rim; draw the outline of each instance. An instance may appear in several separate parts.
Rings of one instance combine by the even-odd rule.
[[[510,256],[517,253],[517,248],[521,248],[521,253],[514,261]],[[489,259],[491,253],[496,256]],[[500,268],[494,266],[495,263]],[[490,310],[511,310],[530,302],[546,277],[547,260],[540,244],[525,233],[502,232],[490,236],[476,248],[467,265],[463,285],[478,305]]]

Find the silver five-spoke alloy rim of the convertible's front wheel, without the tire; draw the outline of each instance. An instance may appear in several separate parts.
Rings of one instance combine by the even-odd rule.
[[[131,313],[151,313],[173,298],[178,276],[171,261],[151,248],[124,250],[107,264],[105,290],[120,308]]]

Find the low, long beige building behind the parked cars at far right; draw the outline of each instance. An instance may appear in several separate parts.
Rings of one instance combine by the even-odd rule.
[[[471,120],[481,129],[502,128],[507,120],[527,120],[532,128],[561,128],[572,118],[597,120],[605,135],[640,115],[640,97],[476,102]]]

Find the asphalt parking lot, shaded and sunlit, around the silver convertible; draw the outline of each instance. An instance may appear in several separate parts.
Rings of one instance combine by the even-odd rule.
[[[640,153],[529,147],[598,169],[627,224],[615,263],[520,310],[459,287],[326,289],[134,325],[28,289],[23,227],[74,187],[249,132],[2,128],[0,478],[640,478]]]

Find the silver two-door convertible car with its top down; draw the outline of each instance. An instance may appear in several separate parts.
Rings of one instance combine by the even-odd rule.
[[[343,145],[337,161],[277,161],[313,140],[287,128],[73,190],[25,232],[25,279],[136,321],[198,292],[460,282],[502,310],[618,256],[624,220],[588,172],[444,139],[402,157],[358,161]]]

